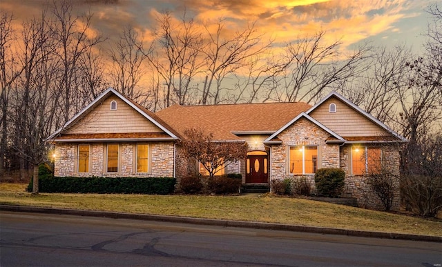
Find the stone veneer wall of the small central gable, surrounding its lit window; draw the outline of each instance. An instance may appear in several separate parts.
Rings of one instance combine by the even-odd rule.
[[[271,180],[293,177],[287,170],[289,146],[318,146],[318,168],[338,168],[338,144],[325,144],[329,134],[307,119],[300,119],[282,131],[278,138],[282,144],[271,146]]]

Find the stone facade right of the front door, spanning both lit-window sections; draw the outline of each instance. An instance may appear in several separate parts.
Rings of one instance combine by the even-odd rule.
[[[351,145],[340,147],[338,144],[325,144],[325,140],[329,134],[323,129],[311,123],[307,119],[300,119],[289,126],[286,130],[278,135],[282,144],[271,146],[271,181],[276,179],[285,179],[296,177],[289,174],[288,170],[288,151],[289,146],[314,145],[318,146],[318,168],[341,168],[345,170],[345,187],[343,197],[354,197],[358,201],[358,206],[362,208],[372,208],[382,210],[383,205],[381,199],[367,184],[366,175],[352,175],[350,166]],[[384,145],[381,147],[384,165],[388,167],[388,171],[394,175],[393,184],[396,187],[392,210],[398,210],[400,205],[399,190],[399,152],[395,146]],[[304,175],[314,188],[314,175]]]

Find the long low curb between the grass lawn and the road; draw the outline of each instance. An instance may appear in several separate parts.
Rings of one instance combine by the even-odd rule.
[[[192,217],[179,217],[179,216],[165,216],[165,215],[144,215],[144,214],[132,214],[124,212],[108,212],[97,210],[73,210],[64,208],[37,208],[32,206],[14,206],[14,205],[0,205],[0,210],[12,211],[12,212],[38,212],[48,214],[59,215],[77,215],[77,216],[89,216],[89,217],[106,217],[113,219],[138,219],[146,221],[168,221],[173,223],[182,224],[202,224],[209,226],[222,226],[222,227],[242,227],[242,228],[256,228],[267,230],[286,230],[293,232],[305,232],[305,233],[319,233],[324,235],[347,235],[352,237],[372,237],[372,238],[385,238],[385,239],[401,239],[401,240],[413,240],[413,241],[429,241],[429,242],[442,242],[442,237],[430,236],[430,235],[412,235],[401,233],[383,233],[363,230],[346,230],[340,228],[323,228],[317,226],[297,226],[291,224],[271,224],[263,222],[253,221],[231,221],[222,219],[200,219]]]

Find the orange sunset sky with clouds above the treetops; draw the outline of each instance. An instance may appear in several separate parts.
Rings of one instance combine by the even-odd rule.
[[[57,1],[57,0],[55,0]],[[73,0],[75,10],[93,15],[92,30],[113,38],[124,26],[151,34],[155,16],[171,11],[210,23],[220,17],[235,31],[255,22],[276,43],[323,30],[329,41],[340,39],[346,48],[364,42],[375,46],[411,46],[419,50],[430,21],[429,0]],[[0,10],[17,22],[39,14],[44,0],[1,0]]]

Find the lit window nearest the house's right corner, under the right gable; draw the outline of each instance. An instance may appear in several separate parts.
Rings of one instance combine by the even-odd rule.
[[[381,148],[354,146],[352,148],[352,174],[365,175],[381,170]]]

